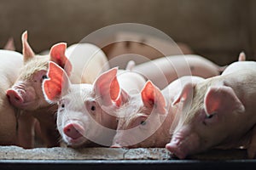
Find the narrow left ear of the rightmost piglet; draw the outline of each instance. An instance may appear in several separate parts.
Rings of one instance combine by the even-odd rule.
[[[195,83],[186,82],[183,86],[182,91],[177,95],[177,97],[173,100],[172,105],[176,105],[180,101],[185,101],[187,99],[191,99],[191,95],[193,94],[193,89],[195,88]]]

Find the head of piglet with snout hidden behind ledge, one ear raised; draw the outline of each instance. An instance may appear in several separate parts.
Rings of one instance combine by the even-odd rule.
[[[146,82],[140,95],[131,97],[128,105],[117,111],[119,124],[112,147],[152,147],[159,142],[166,116],[166,100],[160,89]],[[161,132],[163,133],[163,132]]]

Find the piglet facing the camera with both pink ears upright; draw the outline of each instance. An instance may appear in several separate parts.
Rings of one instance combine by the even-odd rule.
[[[133,79],[130,86],[120,88],[122,77],[128,77],[124,73],[117,77],[117,73],[118,69],[113,68],[102,73],[93,84],[72,84],[60,66],[49,62],[49,79],[43,83],[44,96],[49,103],[58,103],[57,128],[67,145],[111,144],[117,127],[113,112],[125,105],[129,92],[140,90],[134,87],[143,87],[133,84],[145,82],[141,78]]]

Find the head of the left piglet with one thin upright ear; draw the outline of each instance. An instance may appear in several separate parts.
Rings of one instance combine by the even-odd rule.
[[[53,61],[65,68],[70,74],[71,64],[65,56],[66,43],[55,44],[49,56],[35,55],[27,42],[27,31],[22,34],[24,65],[20,77],[7,91],[7,96],[12,105],[26,111],[35,111],[38,108],[49,106],[44,100],[42,82],[47,78],[48,62]]]

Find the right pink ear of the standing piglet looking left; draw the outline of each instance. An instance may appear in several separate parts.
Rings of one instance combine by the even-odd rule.
[[[49,60],[60,65],[67,72],[67,76],[70,76],[72,71],[71,62],[67,59],[65,52],[67,49],[67,43],[60,42],[50,48]]]

